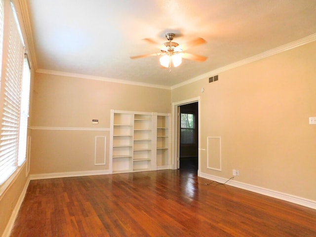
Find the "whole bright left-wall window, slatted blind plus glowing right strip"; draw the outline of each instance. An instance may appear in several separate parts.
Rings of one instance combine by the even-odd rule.
[[[25,66],[24,41],[12,2],[11,8],[12,12],[8,12],[7,51],[3,51],[4,78],[0,84],[0,185],[25,161],[30,93],[30,73],[26,69],[28,65]]]

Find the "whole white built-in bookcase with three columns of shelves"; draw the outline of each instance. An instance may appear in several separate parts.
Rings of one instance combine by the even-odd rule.
[[[111,111],[110,173],[170,167],[170,115]]]

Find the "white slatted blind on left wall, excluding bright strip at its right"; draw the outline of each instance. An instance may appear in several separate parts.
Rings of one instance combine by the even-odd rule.
[[[19,123],[22,90],[24,43],[21,39],[15,11],[9,17],[9,41],[5,79],[1,81],[3,98],[0,133],[0,184],[18,166]]]

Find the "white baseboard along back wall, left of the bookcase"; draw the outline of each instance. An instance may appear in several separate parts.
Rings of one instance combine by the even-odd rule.
[[[66,178],[66,177],[79,177],[90,175],[104,175],[109,174],[108,169],[103,170],[87,170],[87,171],[72,171],[72,172],[60,172],[60,173],[48,173],[48,174],[31,174],[31,180],[37,179],[54,179],[54,178]]]

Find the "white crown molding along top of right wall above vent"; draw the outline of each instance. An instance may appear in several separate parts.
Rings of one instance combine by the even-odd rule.
[[[236,67],[239,67],[239,66],[242,66],[242,65],[245,65],[245,64],[248,64],[248,63],[251,63],[251,62],[263,59],[263,58],[266,58],[266,57],[270,57],[270,56],[275,55],[277,53],[281,53],[281,52],[284,52],[286,50],[289,50],[289,49],[292,49],[292,48],[295,48],[295,47],[299,47],[301,45],[313,42],[315,40],[316,40],[316,34],[313,34],[313,35],[310,35],[310,36],[305,37],[303,39],[296,40],[296,41],[293,41],[293,42],[281,45],[279,47],[276,47],[276,48],[270,49],[268,51],[265,51],[263,53],[259,53],[257,55],[254,55],[254,56],[242,59],[242,60],[237,61],[235,63],[226,65],[226,66],[221,67],[221,68],[217,68],[217,69],[212,70],[212,71],[210,71],[208,73],[199,75],[199,76],[197,76],[195,78],[192,78],[192,79],[183,81],[183,82],[181,82],[179,84],[173,85],[173,86],[171,86],[171,90],[173,90],[175,88],[178,88],[178,87],[181,87],[181,86],[184,86],[184,85],[187,85],[187,84],[191,84],[193,82],[196,82],[196,81],[204,79],[204,78],[209,78],[209,77],[211,77],[213,75],[216,75],[216,74],[228,71],[230,69],[233,69],[233,68],[236,68]]]

